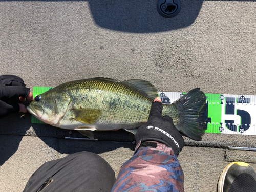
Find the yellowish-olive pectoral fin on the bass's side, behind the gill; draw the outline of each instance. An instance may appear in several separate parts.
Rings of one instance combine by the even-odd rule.
[[[79,108],[72,110],[75,117],[74,119],[86,124],[93,124],[101,115],[101,110],[90,109],[90,108]]]

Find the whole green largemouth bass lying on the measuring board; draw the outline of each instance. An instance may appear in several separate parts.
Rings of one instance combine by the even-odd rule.
[[[93,131],[124,129],[136,134],[147,122],[157,90],[148,81],[119,81],[96,77],[69,81],[37,95],[27,106],[37,119],[94,138]],[[173,118],[177,129],[200,141],[205,133],[206,97],[200,88],[172,104],[163,103],[162,116]]]

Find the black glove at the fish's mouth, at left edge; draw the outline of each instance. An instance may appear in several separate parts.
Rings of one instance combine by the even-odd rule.
[[[29,88],[15,75],[0,76],[0,117],[19,111],[19,97],[28,97]]]

